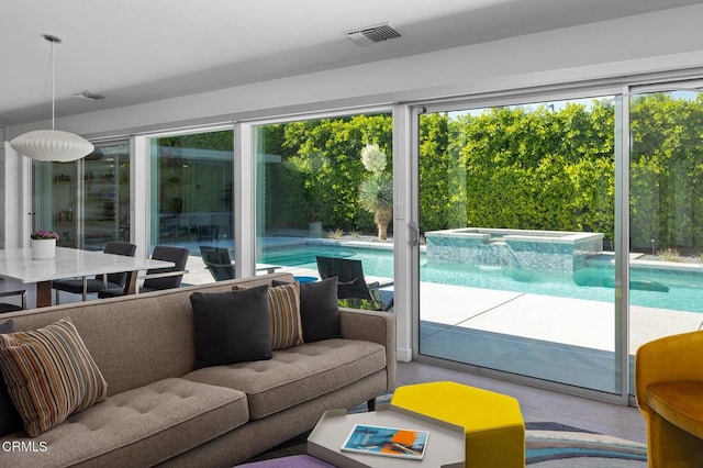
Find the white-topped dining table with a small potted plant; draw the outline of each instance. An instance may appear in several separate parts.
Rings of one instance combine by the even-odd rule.
[[[174,267],[172,261],[127,257],[99,250],[56,247],[56,256],[47,259],[32,258],[32,249],[0,249],[0,278],[36,285],[36,307],[52,305],[52,281],[63,278],[89,277],[127,272],[125,294],[136,292],[140,270]]]

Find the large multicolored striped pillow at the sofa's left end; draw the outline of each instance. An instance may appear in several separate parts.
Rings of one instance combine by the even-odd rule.
[[[30,437],[108,395],[108,383],[68,317],[0,335],[0,367]]]

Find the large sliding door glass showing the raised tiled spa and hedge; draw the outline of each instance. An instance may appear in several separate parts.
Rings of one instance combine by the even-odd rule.
[[[419,119],[420,356],[622,392],[615,100]]]

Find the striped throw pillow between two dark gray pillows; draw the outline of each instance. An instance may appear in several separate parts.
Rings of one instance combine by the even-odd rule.
[[[297,282],[268,290],[268,313],[271,319],[271,348],[287,349],[303,344],[300,321],[300,287]]]

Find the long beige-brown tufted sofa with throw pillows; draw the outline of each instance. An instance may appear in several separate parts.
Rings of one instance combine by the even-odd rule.
[[[343,309],[343,338],[270,360],[194,368],[190,294],[292,281],[288,274],[0,315],[16,331],[70,317],[108,383],[105,401],[30,438],[0,438],[0,465],[233,466],[310,430],[330,409],[392,390],[395,321]]]

